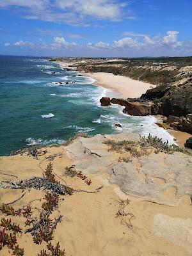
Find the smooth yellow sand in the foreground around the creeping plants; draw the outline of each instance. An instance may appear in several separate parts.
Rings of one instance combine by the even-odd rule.
[[[104,186],[98,193],[74,192],[72,196],[60,196],[58,210],[63,215],[63,220],[58,223],[54,233],[53,244],[60,241],[61,248],[65,248],[66,255],[73,256],[109,256],[109,255],[130,255],[130,256],[186,256],[189,255],[185,248],[170,243],[164,238],[153,234],[153,218],[158,213],[179,218],[191,217],[191,207],[184,202],[178,207],[168,207],[166,205],[153,204],[125,195],[120,189],[108,182],[108,175],[92,175],[91,186],[84,183],[78,177],[70,178],[63,175],[66,166],[70,166],[72,161],[68,158],[65,147],[49,147],[48,153],[40,157],[39,160],[29,156],[12,156],[0,158],[0,179],[19,180],[29,179],[33,176],[42,176],[42,169],[47,166],[45,157],[52,154],[61,153],[52,161],[54,172],[61,177],[56,177],[61,183],[67,182],[68,186],[74,189],[84,189],[93,191],[99,186]],[[2,173],[17,175],[18,179],[4,175]],[[20,190],[0,189],[1,203],[12,202],[22,194]],[[44,192],[26,191],[26,195],[13,204],[16,209],[29,203],[30,200],[41,199],[41,202],[32,202],[32,207],[40,208],[44,202]],[[64,199],[64,200],[62,200]],[[125,212],[133,214],[131,225],[127,227],[124,221],[129,223],[131,215],[123,219],[116,217],[120,200],[130,200],[130,204],[125,207]],[[36,210],[35,210],[36,211]],[[58,212],[57,212],[58,214]],[[4,217],[1,214],[0,217]],[[8,216],[9,218],[9,216]],[[22,218],[13,217],[15,223],[20,223],[24,227]],[[33,243],[31,234],[23,234],[19,239],[19,246],[25,250],[25,255],[36,256],[46,244],[36,245]],[[0,251],[0,255],[8,256],[8,249],[5,247]]]

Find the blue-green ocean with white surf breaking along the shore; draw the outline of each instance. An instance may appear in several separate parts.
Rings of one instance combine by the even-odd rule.
[[[154,116],[125,115],[117,105],[101,107],[99,99],[113,95],[111,90],[55,66],[47,58],[0,56],[0,156],[29,145],[62,144],[78,132],[150,133],[173,143]]]

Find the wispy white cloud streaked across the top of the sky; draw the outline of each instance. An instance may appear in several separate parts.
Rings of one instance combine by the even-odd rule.
[[[126,1],[125,1],[126,2]],[[76,26],[90,26],[86,20],[132,19],[127,3],[118,0],[6,0],[0,1],[0,8],[19,6],[25,19],[40,19],[63,22]]]

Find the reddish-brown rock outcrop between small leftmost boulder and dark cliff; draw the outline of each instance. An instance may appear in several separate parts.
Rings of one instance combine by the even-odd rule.
[[[111,99],[111,103],[125,106],[124,113],[133,116],[146,116],[151,115],[152,104],[142,104],[140,102],[131,102],[124,99]]]

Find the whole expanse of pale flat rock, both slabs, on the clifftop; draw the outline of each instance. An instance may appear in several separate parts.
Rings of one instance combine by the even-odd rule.
[[[107,139],[138,140],[134,134],[78,138],[67,147],[76,168],[85,174],[109,173],[109,182],[129,195],[141,196],[157,204],[191,204],[192,157],[186,154],[151,154],[131,163],[115,162],[115,152],[102,142]]]

